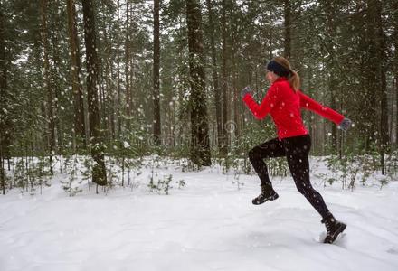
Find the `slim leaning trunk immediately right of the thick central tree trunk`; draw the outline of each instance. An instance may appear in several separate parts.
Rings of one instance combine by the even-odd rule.
[[[217,72],[217,52],[215,50],[215,42],[214,42],[214,23],[213,23],[213,7],[212,1],[206,0],[207,10],[209,13],[209,33],[210,33],[210,46],[212,51],[212,70],[213,70],[213,91],[214,91],[214,99],[215,99],[215,119],[217,122],[217,145],[218,149],[222,149],[223,143],[223,112],[222,107],[222,98],[220,93],[220,87],[218,84],[218,72]]]

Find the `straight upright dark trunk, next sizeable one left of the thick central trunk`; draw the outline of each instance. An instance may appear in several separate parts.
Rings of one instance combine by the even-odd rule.
[[[160,145],[160,0],[154,0],[154,137],[156,145]]]

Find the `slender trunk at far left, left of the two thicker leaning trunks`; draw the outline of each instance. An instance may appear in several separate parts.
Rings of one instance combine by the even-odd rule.
[[[55,121],[53,113],[53,94],[52,85],[50,80],[50,61],[49,61],[49,41],[48,41],[48,29],[47,29],[47,0],[41,0],[41,14],[42,14],[42,41],[43,41],[43,53],[44,53],[44,80],[45,88],[47,89],[47,115],[48,115],[48,147],[50,155],[50,173],[52,171],[52,155],[54,154],[55,146]]]

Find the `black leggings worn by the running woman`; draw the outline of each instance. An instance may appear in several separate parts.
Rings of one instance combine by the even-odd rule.
[[[261,186],[272,186],[267,164],[264,163],[263,159],[286,156],[289,170],[297,189],[306,197],[322,218],[325,218],[329,212],[327,205],[319,192],[309,182],[308,153],[310,148],[311,138],[309,135],[293,136],[281,140],[274,138],[252,148],[249,152],[249,159],[261,179]]]

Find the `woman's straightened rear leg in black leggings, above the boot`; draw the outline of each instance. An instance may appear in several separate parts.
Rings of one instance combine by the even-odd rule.
[[[290,173],[296,187],[309,203],[317,210],[323,219],[327,218],[329,210],[319,192],[317,192],[309,181],[308,153],[311,148],[309,135],[301,135],[285,138],[283,140],[288,158]]]

